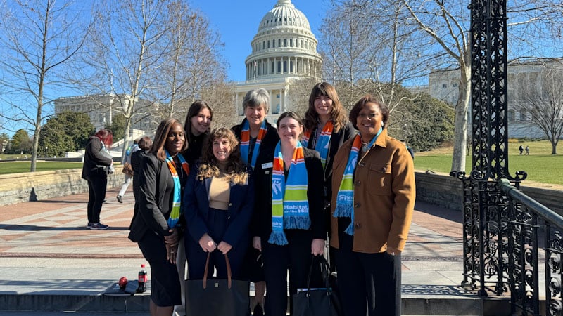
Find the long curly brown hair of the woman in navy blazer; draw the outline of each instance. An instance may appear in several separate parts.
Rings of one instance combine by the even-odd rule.
[[[230,129],[225,129],[224,127],[213,129],[205,141],[205,145],[203,145],[201,164],[198,169],[198,180],[220,175],[219,164],[215,154],[213,154],[213,141],[217,138],[227,138],[232,149],[227,159],[227,168],[224,170],[227,178],[235,184],[247,183],[248,172],[246,171],[246,165],[241,159],[239,140],[236,140],[236,136],[234,136]]]

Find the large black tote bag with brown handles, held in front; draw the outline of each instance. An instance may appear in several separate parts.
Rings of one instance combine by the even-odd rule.
[[[224,260],[227,261],[227,279],[208,279],[210,254],[207,255],[203,280],[185,281],[186,315],[250,315],[250,282],[232,279],[227,254],[224,255]]]

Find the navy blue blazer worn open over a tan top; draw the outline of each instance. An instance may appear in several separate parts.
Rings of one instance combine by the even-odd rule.
[[[182,208],[186,220],[186,238],[191,237],[196,243],[208,233],[207,218],[209,213],[209,187],[211,178],[197,179],[198,165],[191,169],[184,190]],[[231,184],[229,195],[229,209],[227,210],[227,231],[223,240],[235,246],[243,236],[249,236],[254,208],[254,183],[253,177],[248,176],[248,184]],[[221,240],[215,240],[217,244]]]

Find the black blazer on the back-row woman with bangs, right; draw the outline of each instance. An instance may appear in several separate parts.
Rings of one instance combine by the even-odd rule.
[[[330,205],[332,198],[332,162],[334,155],[339,151],[339,148],[344,142],[346,142],[346,140],[353,138],[357,133],[358,131],[354,129],[352,123],[348,121],[348,123],[346,123],[346,125],[344,125],[342,129],[340,129],[336,133],[332,133],[330,136],[329,155],[327,157],[327,162],[325,162],[324,164],[324,202],[325,204],[327,204],[327,206]],[[312,141],[315,135],[315,131],[312,131],[311,138],[309,140],[309,143],[307,144],[307,147],[312,150],[315,149],[312,147],[312,144],[315,143],[314,141]]]

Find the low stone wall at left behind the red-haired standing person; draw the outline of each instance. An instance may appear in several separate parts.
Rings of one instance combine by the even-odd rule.
[[[87,192],[88,183],[81,176],[82,169],[0,175],[0,205]],[[115,165],[115,173],[108,176],[108,187],[120,187],[123,179],[121,165]]]

